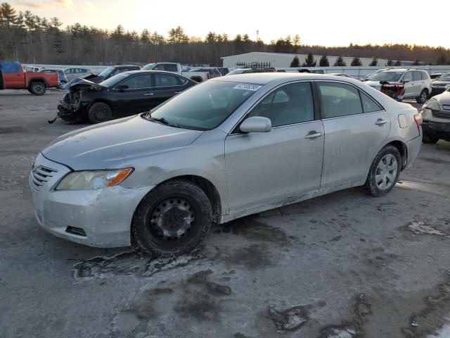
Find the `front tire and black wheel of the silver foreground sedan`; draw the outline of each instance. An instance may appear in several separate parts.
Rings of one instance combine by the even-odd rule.
[[[141,201],[131,231],[151,256],[179,256],[195,249],[210,231],[212,208],[200,187],[188,181],[160,184]]]

